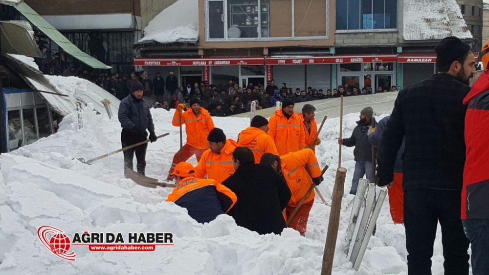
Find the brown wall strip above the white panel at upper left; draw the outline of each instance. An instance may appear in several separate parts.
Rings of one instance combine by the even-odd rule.
[[[25,2],[40,15],[114,13],[141,15],[140,0],[107,0],[103,2],[100,0],[25,0]]]

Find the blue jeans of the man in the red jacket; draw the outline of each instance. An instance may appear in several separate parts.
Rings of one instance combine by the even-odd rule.
[[[489,219],[462,220],[472,249],[472,274],[489,275]]]

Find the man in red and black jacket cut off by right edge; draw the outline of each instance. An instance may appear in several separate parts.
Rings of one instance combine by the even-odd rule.
[[[481,50],[486,70],[464,98],[466,162],[462,187],[462,223],[472,247],[472,273],[489,272],[489,42]]]

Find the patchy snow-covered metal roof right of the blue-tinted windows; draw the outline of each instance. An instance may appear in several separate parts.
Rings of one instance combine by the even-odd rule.
[[[404,0],[403,29],[405,41],[472,38],[455,0]]]

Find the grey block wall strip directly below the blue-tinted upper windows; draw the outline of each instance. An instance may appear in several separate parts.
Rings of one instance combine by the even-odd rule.
[[[402,40],[398,32],[336,33],[334,37],[336,45],[341,46],[397,45]]]

